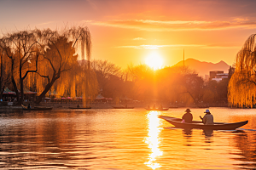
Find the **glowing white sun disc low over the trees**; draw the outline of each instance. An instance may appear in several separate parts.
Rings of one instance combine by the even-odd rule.
[[[154,69],[154,71],[160,69],[163,66],[163,59],[157,52],[149,54],[145,59],[145,62],[146,65]]]

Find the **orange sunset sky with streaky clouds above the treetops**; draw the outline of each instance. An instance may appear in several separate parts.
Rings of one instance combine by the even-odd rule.
[[[0,34],[88,26],[92,58],[124,68],[152,55],[175,65],[183,49],[185,59],[232,65],[256,33],[255,8],[253,0],[1,0]]]

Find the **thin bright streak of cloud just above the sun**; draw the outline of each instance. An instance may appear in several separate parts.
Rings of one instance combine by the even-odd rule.
[[[238,46],[220,46],[220,45],[203,45],[203,44],[168,44],[168,45],[118,46],[116,48],[159,49],[159,48],[240,48],[240,47],[238,47]]]

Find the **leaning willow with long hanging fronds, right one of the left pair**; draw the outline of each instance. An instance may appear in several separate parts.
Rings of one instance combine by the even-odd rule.
[[[81,56],[84,59],[84,52],[86,52],[86,57],[90,63],[90,31],[87,27],[73,27],[71,29],[65,29],[63,31],[50,31],[45,34],[45,41],[47,42],[48,50],[45,51],[44,60],[46,60],[47,65],[49,65],[50,74],[44,71],[45,74],[38,74],[40,77],[47,79],[46,84],[41,81],[44,85],[43,92],[38,96],[36,103],[40,103],[44,98],[45,94],[53,86],[54,82],[61,77],[61,73],[69,71],[75,65],[73,61],[77,61],[77,56],[75,57],[75,49],[80,49]],[[72,50],[67,50],[67,48],[72,48]],[[90,69],[90,66],[88,67]],[[44,69],[43,69],[44,70]]]

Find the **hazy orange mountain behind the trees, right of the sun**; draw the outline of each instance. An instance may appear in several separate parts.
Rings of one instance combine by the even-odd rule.
[[[179,65],[183,65],[183,61],[180,61],[173,66]],[[226,64],[223,60],[219,61],[216,64],[213,64],[210,62],[199,61],[196,59],[186,59],[185,65],[189,66],[189,69],[196,71],[201,77],[209,75],[210,71],[224,71],[224,73],[228,73],[230,69],[230,65]]]

